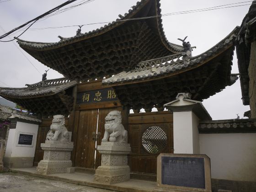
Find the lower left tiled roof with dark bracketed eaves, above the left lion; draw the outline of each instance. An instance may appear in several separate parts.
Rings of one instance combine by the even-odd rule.
[[[73,107],[72,87],[76,84],[76,81],[60,78],[23,88],[0,87],[0,96],[42,117],[68,115]]]

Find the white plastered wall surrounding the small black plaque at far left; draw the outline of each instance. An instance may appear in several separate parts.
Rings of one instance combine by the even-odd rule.
[[[10,129],[5,157],[34,157],[37,143],[38,125],[31,123],[17,122],[15,129]],[[33,147],[16,146],[18,133],[33,133]]]

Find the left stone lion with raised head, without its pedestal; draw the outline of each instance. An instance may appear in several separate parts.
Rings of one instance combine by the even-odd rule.
[[[63,115],[53,116],[53,121],[46,135],[46,140],[69,141],[69,132],[65,127],[65,117]]]

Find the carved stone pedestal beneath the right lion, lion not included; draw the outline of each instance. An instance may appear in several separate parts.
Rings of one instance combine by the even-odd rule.
[[[130,179],[130,168],[127,165],[130,144],[101,142],[97,149],[102,155],[101,166],[95,171],[95,182],[113,184]]]

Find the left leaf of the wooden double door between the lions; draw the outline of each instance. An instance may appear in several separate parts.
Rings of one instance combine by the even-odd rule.
[[[75,150],[75,166],[94,168],[95,140],[98,109],[80,111]]]

